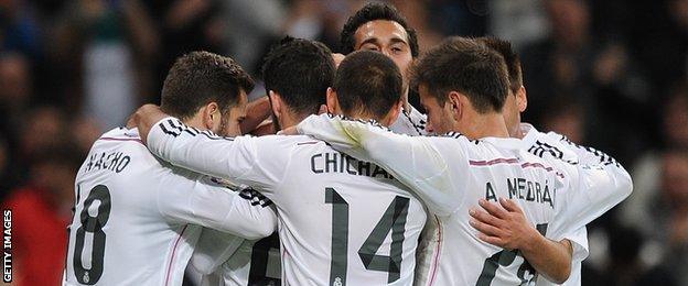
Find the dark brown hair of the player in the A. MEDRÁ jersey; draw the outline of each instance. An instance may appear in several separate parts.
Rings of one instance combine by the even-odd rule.
[[[481,113],[501,111],[508,95],[504,59],[471,38],[448,37],[423,55],[411,74],[413,85],[423,85],[440,105],[450,91],[459,91]]]

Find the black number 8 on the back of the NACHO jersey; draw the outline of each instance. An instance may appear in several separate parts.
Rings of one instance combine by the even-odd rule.
[[[98,201],[98,215],[92,217],[88,209]],[[76,242],[74,249],[74,274],[80,284],[94,285],[103,275],[103,260],[105,257],[105,232],[103,227],[110,217],[110,190],[104,186],[95,186],[86,200],[80,213],[82,226],[76,230]],[[92,253],[86,255],[86,261],[90,261],[90,268],[84,268],[84,240],[86,232],[93,234]]]

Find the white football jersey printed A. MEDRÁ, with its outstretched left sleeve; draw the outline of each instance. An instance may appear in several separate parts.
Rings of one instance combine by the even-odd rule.
[[[514,199],[545,237],[561,240],[596,218],[595,213],[571,213],[571,189],[599,191],[631,184],[630,178],[610,178],[600,166],[546,162],[524,150],[516,139],[471,141],[456,133],[411,138],[326,114],[310,117],[298,128],[336,150],[387,168],[437,215],[439,227],[434,237],[439,248],[427,274],[419,275],[424,280],[418,285],[535,283],[535,270],[518,251],[506,251],[476,238],[477,231],[469,224],[467,209],[476,206],[480,198]]]

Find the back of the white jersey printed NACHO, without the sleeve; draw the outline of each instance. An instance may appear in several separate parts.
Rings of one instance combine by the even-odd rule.
[[[76,177],[65,284],[181,285],[200,227],[175,223],[159,208],[172,172],[135,131],[115,129],[96,141]],[[192,179],[179,187],[198,177],[174,172]]]

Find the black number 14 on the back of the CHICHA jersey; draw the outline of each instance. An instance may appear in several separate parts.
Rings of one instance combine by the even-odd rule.
[[[366,270],[387,272],[387,283],[396,282],[400,277],[404,230],[409,201],[409,198],[396,196],[373,232],[358,249],[358,256]],[[344,286],[346,285],[348,249],[348,202],[334,188],[325,188],[325,204],[332,204],[330,285]],[[390,231],[389,255],[376,254]]]

